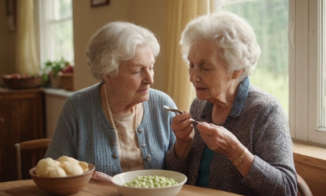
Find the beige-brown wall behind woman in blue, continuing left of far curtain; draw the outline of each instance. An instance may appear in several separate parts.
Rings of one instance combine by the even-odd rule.
[[[15,72],[15,32],[9,32],[6,17],[6,1],[0,1],[0,76]],[[73,0],[75,73],[74,90],[80,90],[98,81],[89,73],[85,47],[90,37],[104,24],[115,21],[131,21],[151,29],[160,39],[161,54],[156,60],[155,82],[151,86],[165,90],[164,42],[165,0],[110,0],[109,5],[91,7],[90,0]],[[2,80],[0,86],[3,86]]]

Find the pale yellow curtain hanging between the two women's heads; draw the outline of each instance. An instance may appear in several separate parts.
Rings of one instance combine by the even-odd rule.
[[[190,19],[207,14],[213,8],[214,0],[167,0],[166,1],[166,92],[182,111],[189,111],[196,97],[189,81],[188,67],[181,59],[179,39]]]

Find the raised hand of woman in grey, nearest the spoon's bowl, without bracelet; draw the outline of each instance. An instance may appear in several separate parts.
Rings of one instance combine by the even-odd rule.
[[[195,136],[194,126],[190,121],[191,115],[187,112],[178,114],[172,118],[171,128],[176,139],[182,143],[192,142]]]

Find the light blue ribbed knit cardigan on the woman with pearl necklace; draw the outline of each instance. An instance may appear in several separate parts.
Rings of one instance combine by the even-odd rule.
[[[113,176],[122,172],[117,138],[101,108],[99,87],[100,83],[67,98],[45,158],[74,157],[95,165],[98,172]],[[164,169],[165,155],[175,141],[170,128],[175,113],[165,110],[163,105],[176,107],[166,93],[150,89],[136,132],[146,169]]]

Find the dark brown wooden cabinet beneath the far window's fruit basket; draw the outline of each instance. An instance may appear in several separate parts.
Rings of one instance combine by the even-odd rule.
[[[44,138],[43,91],[0,88],[0,182],[16,180],[14,144]],[[22,179],[30,179],[28,159],[43,152],[22,153]]]

